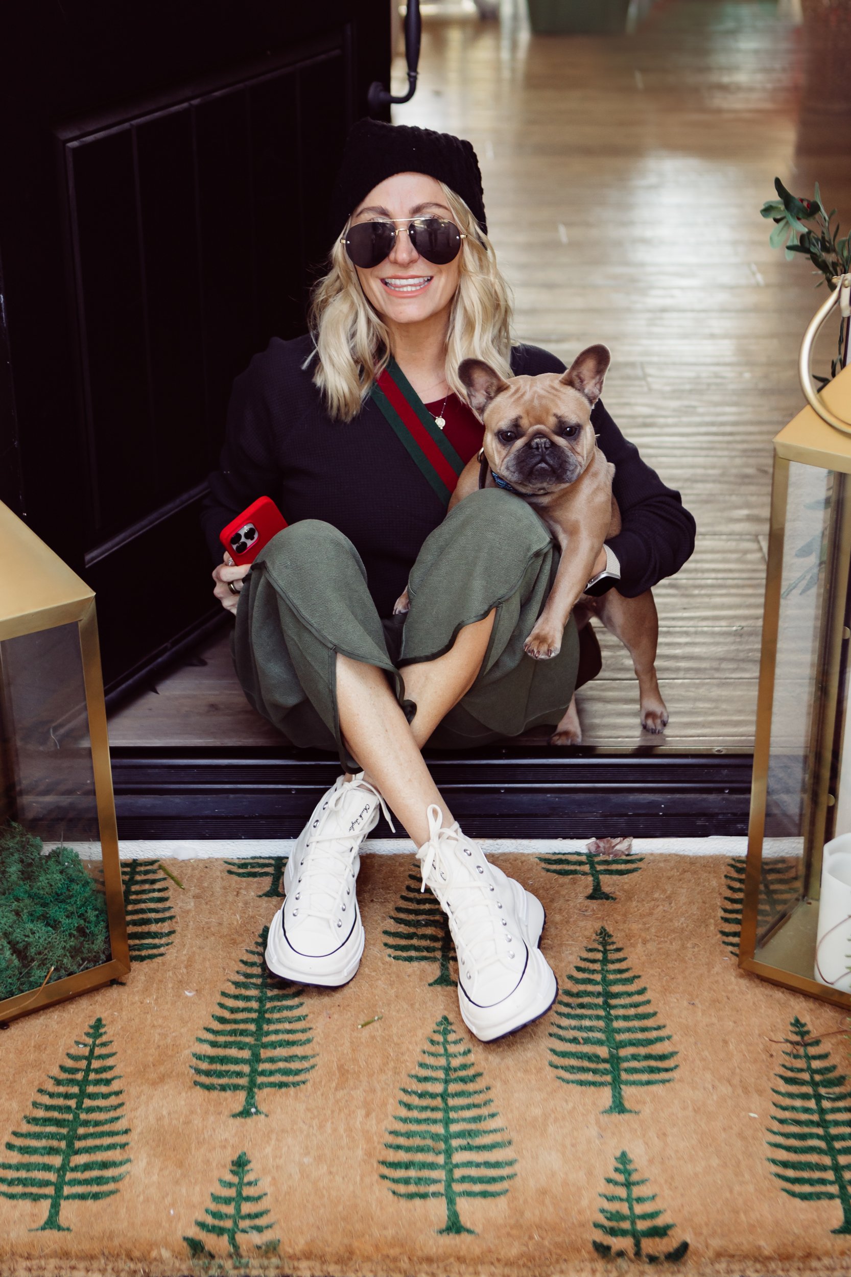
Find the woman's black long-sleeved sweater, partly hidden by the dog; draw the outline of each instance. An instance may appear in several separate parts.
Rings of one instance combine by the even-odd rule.
[[[381,617],[390,617],[428,534],[445,516],[440,499],[367,401],[353,421],[334,421],[313,384],[309,337],[272,337],[234,382],[220,469],[210,475],[202,522],[211,553],[222,558],[218,533],[257,497],[284,518],[322,518],[353,541]],[[515,374],[564,372],[555,355],[515,346]],[[682,567],[694,549],[694,518],[666,488],[598,402],[592,421],[615,464],[622,531],[610,545],[621,564],[621,594],[634,596]]]

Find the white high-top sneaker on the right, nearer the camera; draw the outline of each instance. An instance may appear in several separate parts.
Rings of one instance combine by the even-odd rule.
[[[448,917],[461,1019],[491,1042],[537,1020],[556,1000],[556,977],[538,949],[544,911],[457,822],[442,829],[441,820],[431,806],[428,842],[417,852],[423,890],[432,889]]]

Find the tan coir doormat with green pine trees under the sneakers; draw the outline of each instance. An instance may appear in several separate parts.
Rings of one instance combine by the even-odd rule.
[[[328,991],[264,971],[280,859],[126,865],[126,983],[0,1036],[0,1271],[851,1272],[846,1018],[737,971],[744,862],[500,863],[561,994],[491,1045],[413,857]]]

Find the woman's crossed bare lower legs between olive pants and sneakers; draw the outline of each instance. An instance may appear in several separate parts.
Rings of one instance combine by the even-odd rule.
[[[405,695],[417,702],[410,724],[383,670],[337,654],[337,711],[346,748],[418,847],[428,839],[425,810],[431,803],[443,812],[445,825],[454,819],[420,750],[475,682],[493,617],[491,610],[460,630],[450,650],[437,660],[404,668]]]

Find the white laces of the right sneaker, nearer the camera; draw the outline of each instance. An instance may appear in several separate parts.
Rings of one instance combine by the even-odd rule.
[[[459,854],[471,857],[471,852],[461,843],[457,821],[442,829],[442,812],[434,805],[427,816],[428,842],[418,853],[422,857],[420,893],[427,886],[434,890],[448,918],[459,963],[465,965],[469,958],[478,972],[484,972],[502,958],[498,945],[502,919],[497,917],[496,888],[487,868],[471,862],[466,868],[459,859]]]

